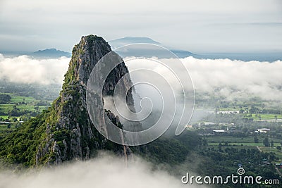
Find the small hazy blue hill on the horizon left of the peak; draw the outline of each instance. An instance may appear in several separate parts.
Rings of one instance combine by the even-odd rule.
[[[35,51],[30,56],[35,58],[59,58],[61,56],[71,57],[71,53],[57,49],[44,49]]]

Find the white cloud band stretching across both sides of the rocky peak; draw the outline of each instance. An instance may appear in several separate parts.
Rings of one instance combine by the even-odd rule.
[[[169,65],[172,59],[159,59]],[[70,58],[34,59],[29,56],[8,58],[0,54],[0,79],[19,83],[63,83]],[[231,61],[229,59],[180,59],[188,69],[196,92],[209,92],[233,97],[259,96],[266,100],[282,100],[282,61]],[[125,62],[126,63],[126,62]],[[157,71],[173,81],[168,69],[152,61],[139,59],[126,63],[129,70],[137,65]],[[185,71],[180,73],[186,74]],[[131,76],[131,74],[130,74]],[[146,76],[146,75],[144,75]],[[133,81],[134,81],[133,77]],[[140,79],[140,78],[139,78]],[[175,80],[175,79],[174,79]],[[139,89],[140,90],[140,89]],[[147,91],[147,90],[146,90]],[[145,91],[145,93],[146,93]],[[144,91],[137,92],[142,95]]]

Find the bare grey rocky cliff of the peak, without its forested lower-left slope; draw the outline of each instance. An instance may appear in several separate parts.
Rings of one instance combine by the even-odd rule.
[[[87,159],[93,156],[97,149],[109,149],[123,156],[130,153],[127,146],[114,144],[102,137],[92,125],[87,113],[87,80],[94,65],[110,51],[109,44],[102,37],[94,35],[82,37],[74,46],[63,89],[44,120],[46,131],[42,134],[44,139],[37,149],[36,165],[59,165],[63,161]],[[126,73],[128,69],[124,63],[114,68],[109,79],[106,79],[103,94],[113,94],[118,80]],[[131,81],[125,79],[123,82],[126,87]],[[127,102],[133,106],[133,96],[130,89],[129,91]],[[103,106],[97,108],[101,108],[101,113],[104,113]],[[122,126],[113,113],[106,111],[106,114],[113,123]]]

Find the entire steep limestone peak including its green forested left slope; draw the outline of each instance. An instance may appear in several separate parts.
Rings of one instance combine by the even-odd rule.
[[[7,147],[0,152],[2,156],[7,156],[5,160],[26,166],[59,165],[63,161],[86,160],[95,156],[100,149],[128,156],[130,153],[128,146],[116,144],[103,137],[94,127],[87,111],[87,80],[97,62],[110,51],[111,46],[102,37],[96,35],[81,37],[80,42],[73,47],[59,97],[47,111],[27,121],[1,140],[11,142],[7,144],[11,145],[11,148]],[[116,66],[109,74],[109,79],[104,82],[103,94],[113,94],[114,87],[126,73],[128,68],[123,62]],[[96,81],[100,81],[99,77]],[[123,79],[121,82],[124,82],[123,85],[126,87],[131,81]],[[128,101],[133,104],[131,90],[128,91]],[[100,115],[97,118],[100,118],[101,122],[104,121],[104,115],[107,115],[115,125],[122,127],[116,115],[106,111],[103,103],[97,104],[94,108],[99,111]],[[18,146],[12,143],[14,137],[21,137],[20,143],[25,146],[20,148],[20,151]]]

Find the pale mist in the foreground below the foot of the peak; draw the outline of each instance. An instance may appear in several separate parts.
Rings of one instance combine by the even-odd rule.
[[[42,170],[40,173],[15,175],[0,173],[0,187],[61,188],[61,187],[194,187],[182,184],[180,177],[173,177],[140,159],[125,164],[122,158],[103,156],[92,161],[80,161],[61,168]]]

